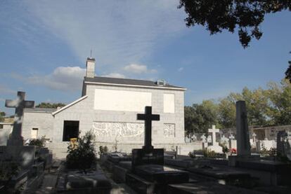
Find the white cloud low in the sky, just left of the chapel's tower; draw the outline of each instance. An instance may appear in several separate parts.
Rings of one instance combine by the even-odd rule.
[[[31,85],[41,85],[52,90],[76,91],[81,90],[86,69],[80,67],[57,67],[46,76],[32,75],[23,77],[13,74],[13,78],[25,81]]]

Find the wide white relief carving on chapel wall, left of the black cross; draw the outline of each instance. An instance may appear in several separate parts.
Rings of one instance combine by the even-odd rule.
[[[97,139],[108,142],[122,138],[132,138],[133,141],[141,141],[144,133],[143,123],[93,122],[92,128]]]

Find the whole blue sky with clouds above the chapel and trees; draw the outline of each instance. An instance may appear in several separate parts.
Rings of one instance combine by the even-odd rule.
[[[69,103],[81,96],[86,57],[98,76],[187,88],[186,105],[280,81],[291,50],[291,12],[266,15],[259,41],[188,28],[179,1],[0,1],[0,111],[5,99]]]

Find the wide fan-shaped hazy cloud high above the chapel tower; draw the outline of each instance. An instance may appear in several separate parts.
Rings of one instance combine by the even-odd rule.
[[[94,57],[108,71],[141,62],[150,57],[155,46],[185,29],[184,13],[176,8],[177,0],[25,1],[22,4],[34,16],[31,18],[37,27],[65,41],[80,61],[92,48]]]

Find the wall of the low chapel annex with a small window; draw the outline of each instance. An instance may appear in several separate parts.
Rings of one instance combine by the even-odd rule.
[[[27,112],[23,114],[22,137],[32,138],[32,128],[38,128],[37,138],[53,138],[53,116],[48,112]]]

